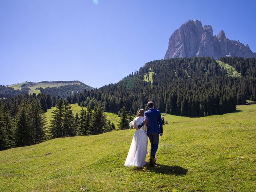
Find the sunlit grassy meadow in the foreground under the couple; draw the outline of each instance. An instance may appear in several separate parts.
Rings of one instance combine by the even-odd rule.
[[[134,130],[1,151],[0,191],[255,192],[255,116],[256,105],[202,118],[165,114],[155,168],[148,156],[143,169],[124,167]]]

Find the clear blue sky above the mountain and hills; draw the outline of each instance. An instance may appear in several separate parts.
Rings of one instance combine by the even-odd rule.
[[[116,83],[164,58],[186,20],[256,52],[255,0],[0,0],[0,84]]]

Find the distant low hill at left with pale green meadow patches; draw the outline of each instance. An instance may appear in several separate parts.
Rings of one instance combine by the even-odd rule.
[[[84,89],[92,90],[94,88],[80,82],[80,81],[42,81],[38,83],[24,82],[9,85],[8,87],[14,88],[14,90],[25,90],[28,94],[33,93],[46,93],[52,96],[61,96],[66,98],[70,94],[83,92]]]

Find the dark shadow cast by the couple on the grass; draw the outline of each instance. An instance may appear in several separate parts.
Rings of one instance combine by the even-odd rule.
[[[133,168],[132,170],[139,172],[139,171],[150,171],[158,174],[163,174],[163,175],[186,175],[188,170],[184,169],[183,167],[180,166],[168,166],[168,165],[162,165],[162,164],[157,164],[154,167],[151,167],[149,162],[146,162],[146,166],[141,167],[141,168]]]

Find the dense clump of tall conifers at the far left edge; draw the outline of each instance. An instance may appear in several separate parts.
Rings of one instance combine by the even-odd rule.
[[[10,111],[0,102],[0,150],[37,144],[45,138],[46,119],[38,98],[23,99]]]

